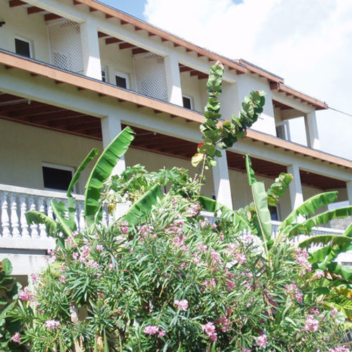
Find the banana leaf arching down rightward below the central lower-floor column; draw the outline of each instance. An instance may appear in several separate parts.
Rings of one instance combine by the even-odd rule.
[[[251,224],[248,219],[244,218],[237,210],[232,210],[227,208],[221,203],[218,203],[214,199],[210,199],[206,196],[199,196],[198,201],[201,204],[202,208],[214,213],[214,216],[218,216],[218,213],[221,213],[220,219],[229,220],[233,224],[237,225],[237,229],[241,230],[251,230]]]

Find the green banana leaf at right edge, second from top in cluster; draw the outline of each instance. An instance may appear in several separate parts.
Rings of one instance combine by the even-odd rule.
[[[290,237],[295,234],[310,234],[312,227],[327,224],[330,220],[346,218],[352,215],[352,206],[345,206],[313,216],[312,218],[297,224],[290,229]]]

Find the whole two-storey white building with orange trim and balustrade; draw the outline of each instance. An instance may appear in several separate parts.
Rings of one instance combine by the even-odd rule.
[[[315,111],[322,101],[244,60],[230,60],[94,0],[0,0],[0,260],[27,275],[53,246],[44,226],[24,213],[51,214],[49,201],[84,156],[121,128],[137,136],[118,168],[182,166],[200,142],[206,78],[225,65],[222,117],[238,113],[251,90],[267,92],[264,112],[246,137],[208,172],[204,192],[239,208],[251,201],[244,154],[269,185],[279,172],[294,182],[273,218],[321,191],[352,202],[352,162],[320,151]],[[322,82],[323,84],[323,82]],[[308,146],[289,141],[288,120],[304,117]],[[89,170],[77,184],[82,194]],[[78,196],[82,199],[82,196]],[[82,222],[77,210],[77,222]],[[334,232],[334,230],[322,230]]]

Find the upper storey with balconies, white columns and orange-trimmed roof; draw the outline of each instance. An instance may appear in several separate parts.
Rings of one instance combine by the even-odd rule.
[[[207,100],[209,65],[220,60],[225,64],[220,97],[224,119],[239,111],[251,90],[263,89],[267,103],[253,129],[289,140],[287,118],[278,110],[284,100],[294,116],[298,111],[305,117],[307,145],[320,148],[315,109],[325,105],[296,91],[288,98],[285,92],[282,99],[282,78],[246,61],[217,56],[94,1],[94,7],[81,1],[61,3],[0,0],[0,11],[6,14],[0,48],[200,112]]]

